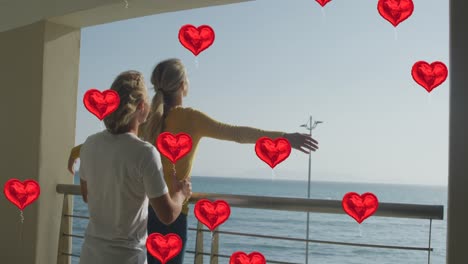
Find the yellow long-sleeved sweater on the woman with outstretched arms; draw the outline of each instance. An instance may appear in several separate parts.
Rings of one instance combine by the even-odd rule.
[[[189,177],[198,143],[202,137],[253,144],[257,142],[260,137],[275,139],[284,135],[284,132],[272,132],[252,127],[232,126],[220,123],[198,110],[183,107],[176,107],[169,111],[165,119],[164,131],[173,134],[184,132],[192,137],[192,150],[175,164],[177,178],[179,180]],[[154,145],[155,140],[151,143]],[[79,157],[80,148],[81,145],[78,145],[72,149],[70,155],[73,159]],[[164,178],[170,191],[172,186],[171,175],[173,165],[169,159],[162,155],[161,161],[164,170]],[[188,205],[185,204],[182,213],[188,214],[188,210]]]

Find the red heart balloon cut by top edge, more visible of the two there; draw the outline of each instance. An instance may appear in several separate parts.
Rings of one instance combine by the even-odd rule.
[[[379,0],[377,9],[383,18],[396,27],[413,14],[414,4],[412,0]]]

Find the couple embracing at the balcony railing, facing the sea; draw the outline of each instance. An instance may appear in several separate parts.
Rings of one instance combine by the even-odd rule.
[[[70,153],[72,173],[75,160],[81,159],[80,184],[90,215],[81,264],[159,263],[145,248],[147,234],[155,232],[182,238],[181,253],[168,264],[183,263],[187,201],[192,194],[189,175],[202,137],[250,144],[264,136],[284,137],[304,153],[318,148],[317,141],[306,134],[232,126],[182,107],[189,81],[179,59],[160,62],[151,83],[156,95],[150,105],[141,73],[117,76],[111,89],[119,94],[120,105],[104,118],[106,130],[89,136]],[[176,176],[172,163],[153,146],[166,131],[185,132],[193,141],[192,150],[175,165]]]

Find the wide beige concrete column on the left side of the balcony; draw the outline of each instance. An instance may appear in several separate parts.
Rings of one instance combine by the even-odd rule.
[[[20,211],[0,199],[2,263],[57,261],[66,170],[75,141],[80,30],[38,22],[0,33],[0,183],[34,179],[39,199]]]

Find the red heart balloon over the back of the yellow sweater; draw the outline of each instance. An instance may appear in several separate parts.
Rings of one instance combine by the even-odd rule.
[[[169,132],[164,132],[158,136],[156,147],[172,163],[176,163],[192,150],[192,138],[186,133],[174,136]]]

